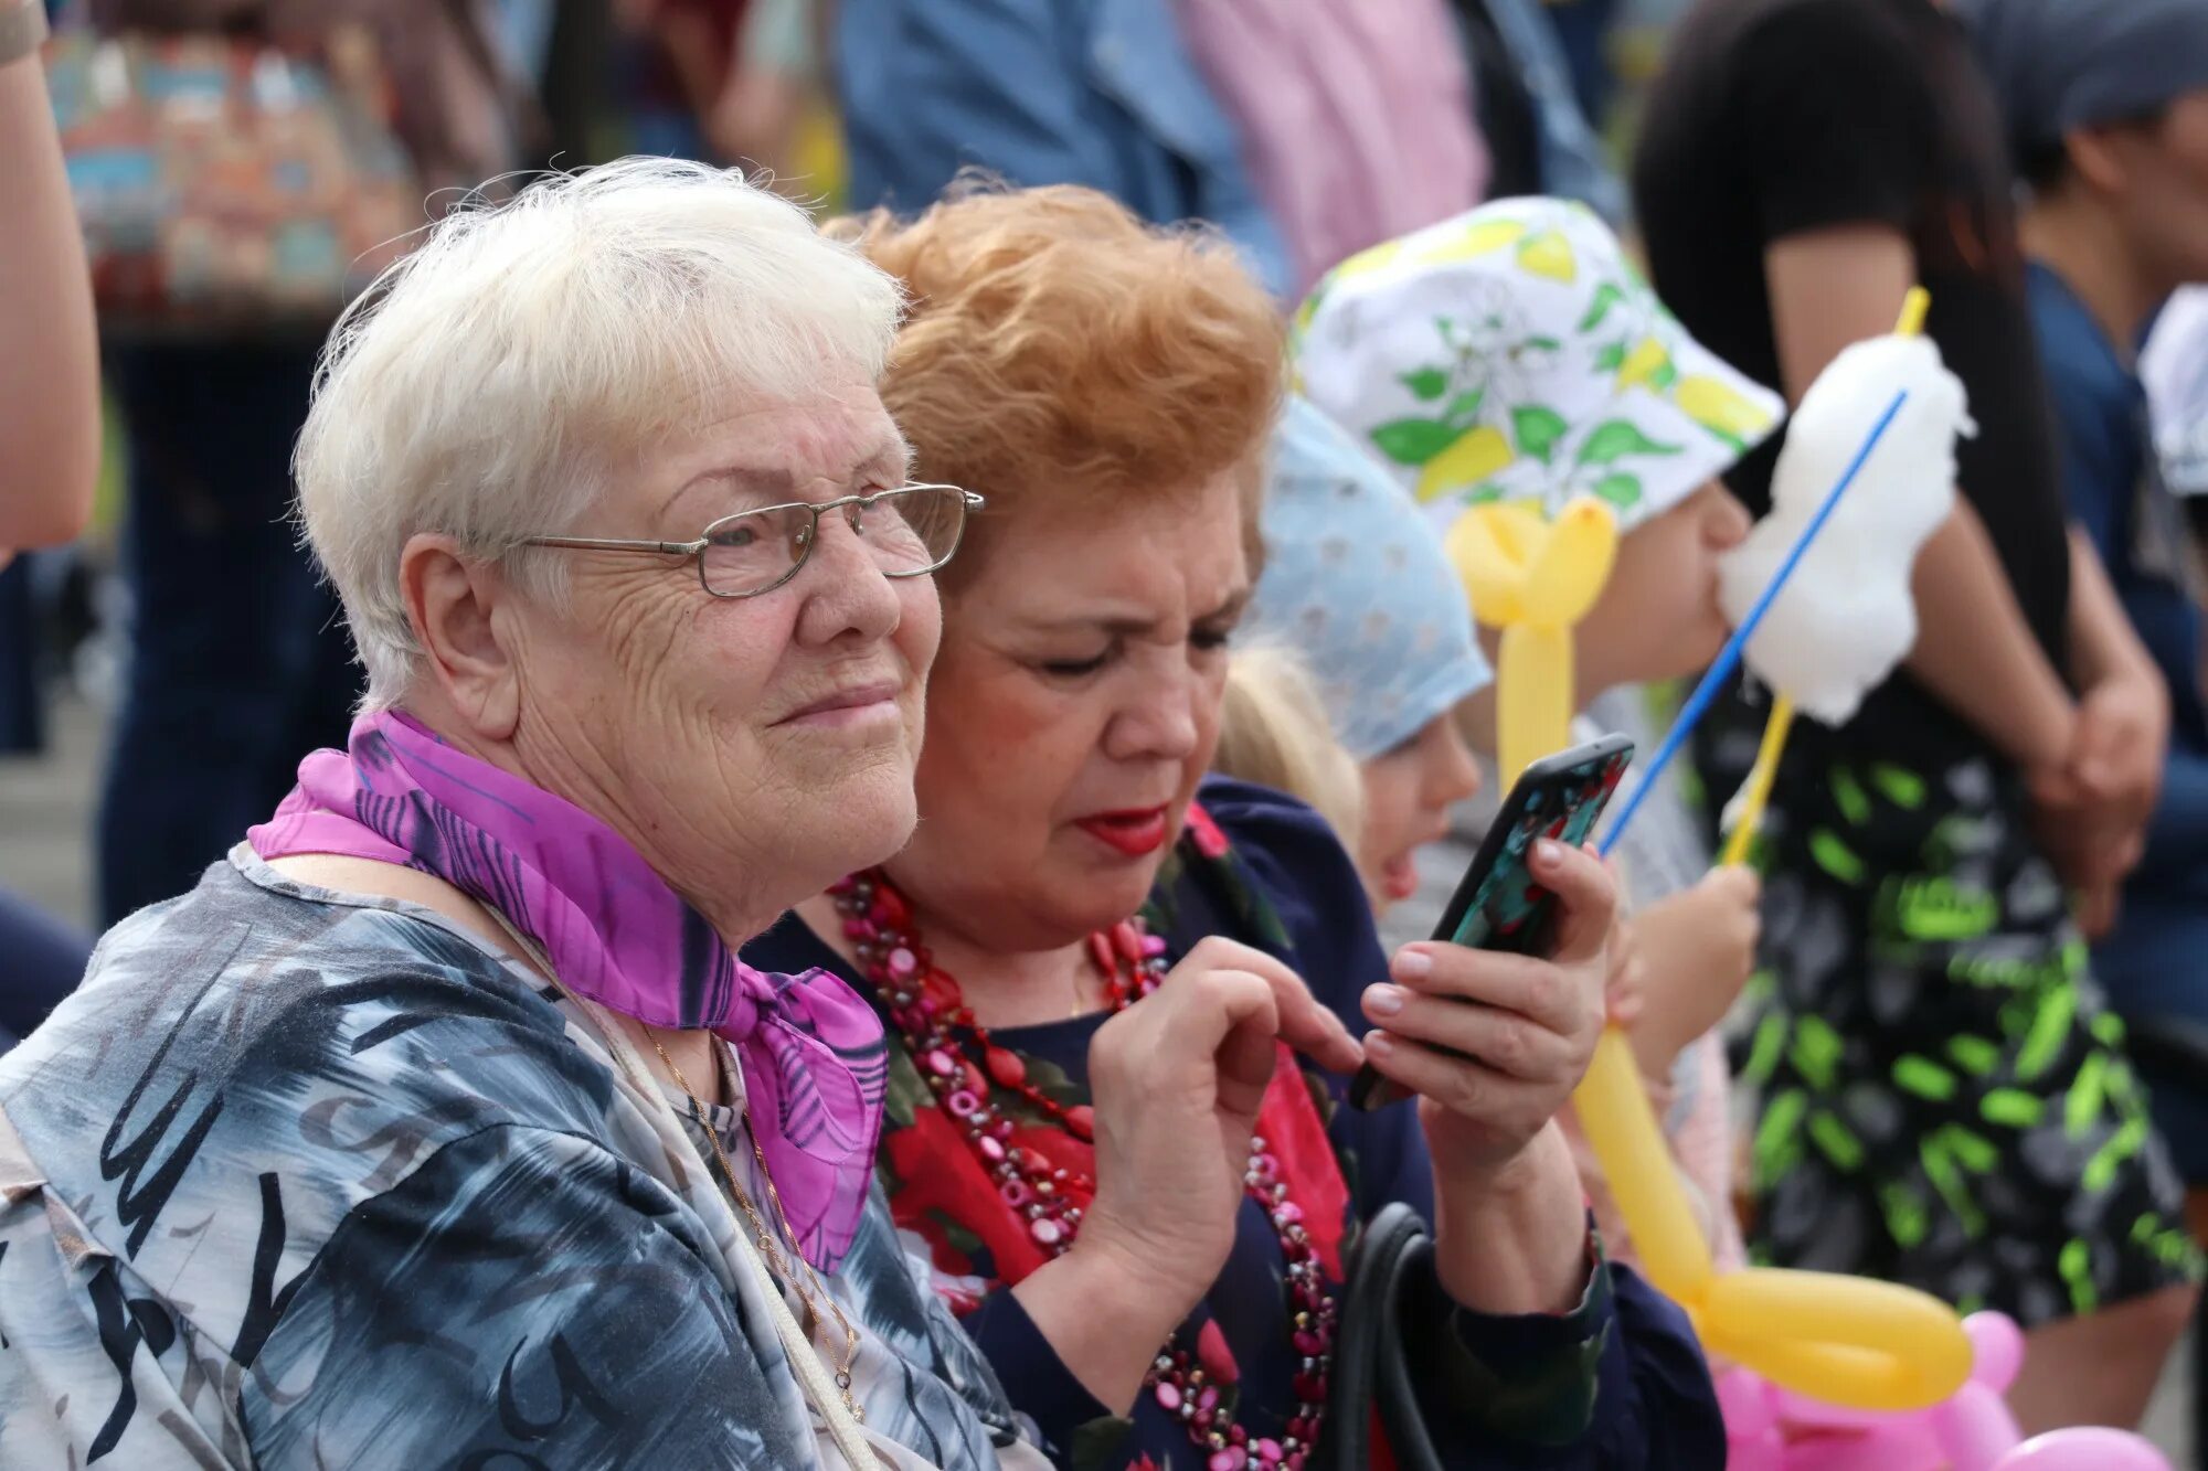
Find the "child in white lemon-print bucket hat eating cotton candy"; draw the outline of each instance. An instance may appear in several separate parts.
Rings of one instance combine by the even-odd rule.
[[[1354,256],[1298,309],[1292,351],[1298,389],[1420,501],[1435,539],[1477,506],[1610,506],[1616,563],[1577,627],[1581,702],[1700,669],[1724,643],[1718,559],[1749,519],[1718,475],[1784,404],[1696,342],[1583,205],[1499,201]],[[1630,1034],[1705,1230],[1740,1261],[1729,1080],[1707,1029],[1747,983],[1760,892],[1738,870],[1638,861],[1636,846]],[[1616,1235],[1588,1151],[1581,1173]]]

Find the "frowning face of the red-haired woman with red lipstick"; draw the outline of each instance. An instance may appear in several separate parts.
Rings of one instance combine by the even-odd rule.
[[[1142,908],[1219,738],[1250,596],[1230,475],[1130,510],[1033,510],[945,607],[921,828],[890,866],[1000,952]]]

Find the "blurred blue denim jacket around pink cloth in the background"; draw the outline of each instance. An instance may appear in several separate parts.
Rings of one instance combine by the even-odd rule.
[[[1276,298],[1298,294],[1281,221],[1181,31],[1190,0],[839,0],[835,86],[850,203],[925,210],[960,170],[1082,183],[1153,223],[1217,225]],[[1451,0],[1493,194],[1561,194],[1612,223],[1625,188],[1537,0]],[[1345,64],[1349,64],[1345,60]],[[1378,239],[1378,236],[1376,236]]]

